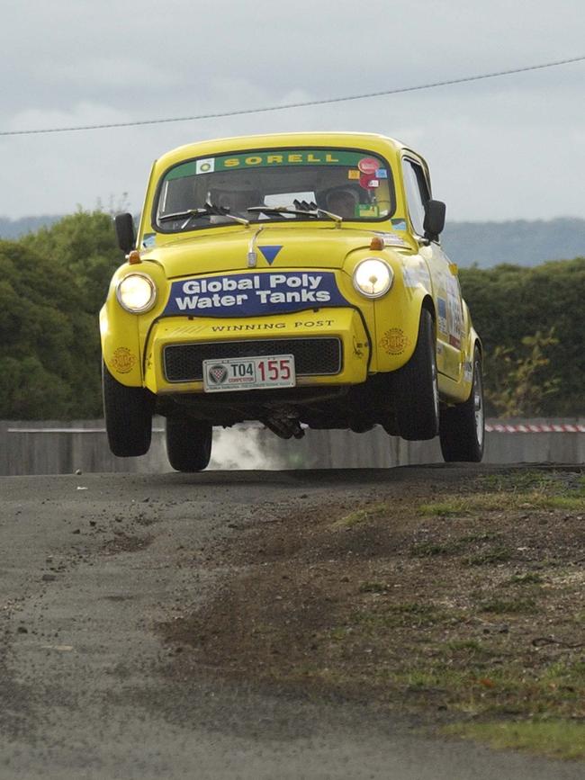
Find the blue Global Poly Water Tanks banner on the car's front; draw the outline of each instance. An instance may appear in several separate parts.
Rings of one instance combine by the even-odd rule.
[[[347,306],[335,273],[231,273],[173,282],[163,314],[253,317],[321,306]]]

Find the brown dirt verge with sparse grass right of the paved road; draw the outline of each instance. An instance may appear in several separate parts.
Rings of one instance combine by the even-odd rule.
[[[443,721],[572,719],[585,737],[579,470],[398,482],[237,540],[216,598],[161,626],[177,664]]]

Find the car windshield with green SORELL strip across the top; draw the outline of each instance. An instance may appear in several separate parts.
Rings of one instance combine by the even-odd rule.
[[[382,157],[349,149],[269,149],[170,168],[158,188],[154,224],[175,233],[233,224],[234,216],[330,221],[329,212],[342,220],[384,220],[394,208],[392,171]],[[196,218],[185,219],[190,214]]]

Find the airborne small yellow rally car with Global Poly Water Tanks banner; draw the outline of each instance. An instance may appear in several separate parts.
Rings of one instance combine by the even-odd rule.
[[[177,148],[152,167],[138,233],[100,314],[112,453],[166,417],[177,471],[213,426],[260,421],[404,439],[480,461],[482,344],[439,244],[446,207],[414,150],[367,133],[287,133]]]

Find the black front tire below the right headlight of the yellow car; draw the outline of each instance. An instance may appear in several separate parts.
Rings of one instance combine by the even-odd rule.
[[[396,416],[401,437],[433,439],[438,434],[437,354],[433,318],[420,312],[419,337],[410,361],[396,372]]]

